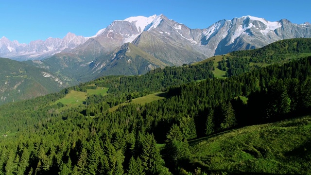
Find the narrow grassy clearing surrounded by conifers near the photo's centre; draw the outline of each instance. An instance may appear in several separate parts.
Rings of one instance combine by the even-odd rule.
[[[109,109],[109,112],[113,112],[113,111],[117,110],[120,106],[123,106],[123,105],[128,105],[130,103],[144,105],[146,103],[150,103],[150,102],[155,101],[155,100],[164,99],[165,96],[166,96],[166,92],[156,92],[153,94],[149,94],[149,95],[146,95],[143,97],[133,99],[132,102],[126,102],[126,103],[122,103],[120,105],[113,106]]]

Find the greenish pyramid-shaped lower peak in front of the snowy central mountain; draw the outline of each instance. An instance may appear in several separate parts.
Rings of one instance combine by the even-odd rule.
[[[98,57],[89,65],[93,74],[96,73],[98,76],[144,74],[165,66],[167,66],[165,63],[131,43],[125,43],[114,52]]]

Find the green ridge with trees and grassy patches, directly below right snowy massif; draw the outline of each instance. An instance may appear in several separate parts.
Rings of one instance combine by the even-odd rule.
[[[276,41],[259,49],[215,55],[194,65],[212,61],[215,77],[224,78],[307,56],[311,56],[311,38],[294,38]]]

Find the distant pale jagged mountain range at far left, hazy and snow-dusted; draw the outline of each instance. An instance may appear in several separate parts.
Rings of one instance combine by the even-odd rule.
[[[6,37],[0,38],[0,57],[15,60],[38,60],[52,56],[64,49],[73,49],[87,40],[84,36],[76,36],[68,33],[64,38],[49,37],[45,41],[35,40],[29,44],[20,44],[18,41],[10,41]]]

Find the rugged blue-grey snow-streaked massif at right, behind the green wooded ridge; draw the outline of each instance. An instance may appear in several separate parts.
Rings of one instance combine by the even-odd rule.
[[[212,30],[210,33],[207,32],[204,37],[207,45],[212,41],[217,43],[214,50],[216,55],[256,49],[281,39],[311,37],[311,25],[293,24],[286,19],[271,22],[263,18],[245,16],[223,20],[221,23],[207,28],[209,31],[214,26],[221,26],[214,32]]]

